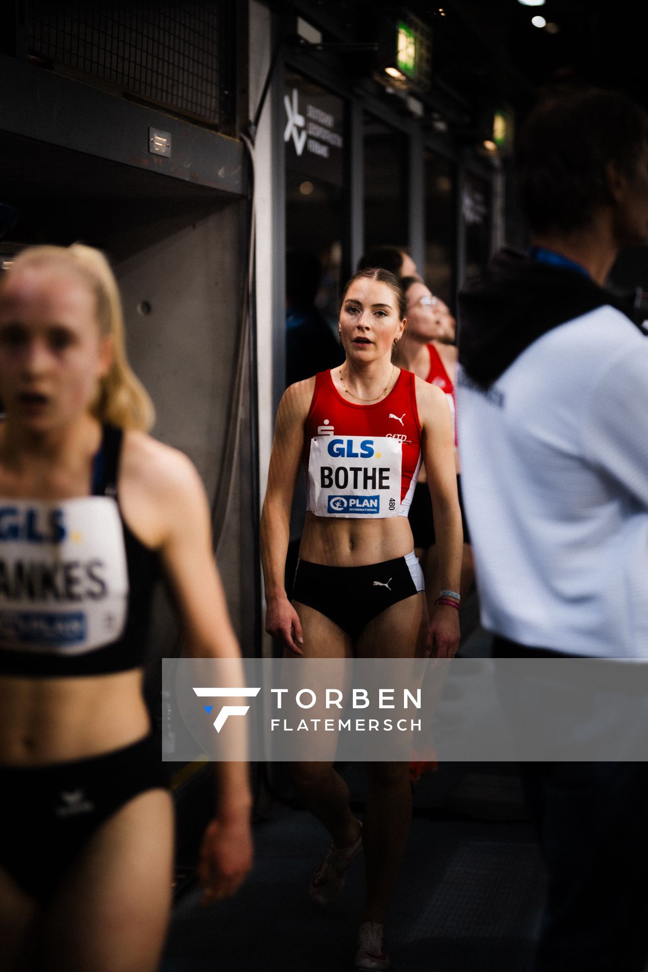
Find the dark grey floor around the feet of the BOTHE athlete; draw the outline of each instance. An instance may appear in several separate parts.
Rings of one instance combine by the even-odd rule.
[[[488,656],[490,639],[474,608],[462,627],[462,653]],[[361,817],[362,767],[351,764],[344,775]],[[281,775],[275,785],[281,790]],[[386,926],[393,972],[525,972],[545,876],[514,765],[442,764],[416,785],[414,808]],[[327,845],[324,828],[270,796],[265,813],[255,829],[255,868],[241,891],[201,908],[193,887],[176,904],[162,972],[353,969],[361,858],[341,898],[319,908],[307,888]]]

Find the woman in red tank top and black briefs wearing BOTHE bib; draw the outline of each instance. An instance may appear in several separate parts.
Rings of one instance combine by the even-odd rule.
[[[427,621],[423,573],[407,509],[421,456],[434,509],[442,588],[459,590],[461,517],[450,409],[443,392],[392,365],[405,329],[405,296],[386,270],[365,269],[344,293],[340,368],[291,385],[279,406],[261,519],[266,630],[287,655],[305,658],[450,657],[459,612],[437,604]],[[376,453],[380,456],[380,461]],[[309,512],[293,602],[284,586],[290,502],[300,463],[308,469]],[[349,861],[364,850],[367,898],[357,969],[386,969],[384,922],[411,817],[409,767],[369,763],[360,823],[332,763],[293,766],[306,807],[332,844],[310,889],[336,897]]]

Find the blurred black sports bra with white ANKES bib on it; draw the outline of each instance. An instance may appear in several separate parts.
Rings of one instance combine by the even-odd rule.
[[[121,516],[122,439],[103,427],[91,496],[0,499],[0,675],[106,675],[143,664],[159,555]]]

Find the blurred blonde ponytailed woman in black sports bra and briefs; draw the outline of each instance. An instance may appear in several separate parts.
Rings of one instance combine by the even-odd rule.
[[[83,246],[0,278],[0,941],[3,970],[153,972],[172,803],[142,695],[160,567],[196,656],[238,656],[187,457],[144,433],[119,292]],[[211,897],[251,867],[244,764],[218,767]]]

